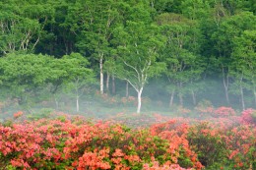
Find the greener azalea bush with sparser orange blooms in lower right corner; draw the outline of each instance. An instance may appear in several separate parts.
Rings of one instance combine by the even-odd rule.
[[[190,128],[188,140],[199,161],[210,169],[252,169],[256,129],[220,125],[202,122]]]

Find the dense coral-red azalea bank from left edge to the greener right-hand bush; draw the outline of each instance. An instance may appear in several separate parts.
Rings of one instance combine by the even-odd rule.
[[[186,128],[179,133],[182,131]],[[6,169],[178,167],[178,145],[188,153],[182,154],[182,159],[196,156],[189,153],[188,143],[182,144],[185,135],[173,134],[173,140],[169,136],[167,141],[145,129],[130,130],[102,122],[40,119],[1,125],[0,133],[0,166]]]

